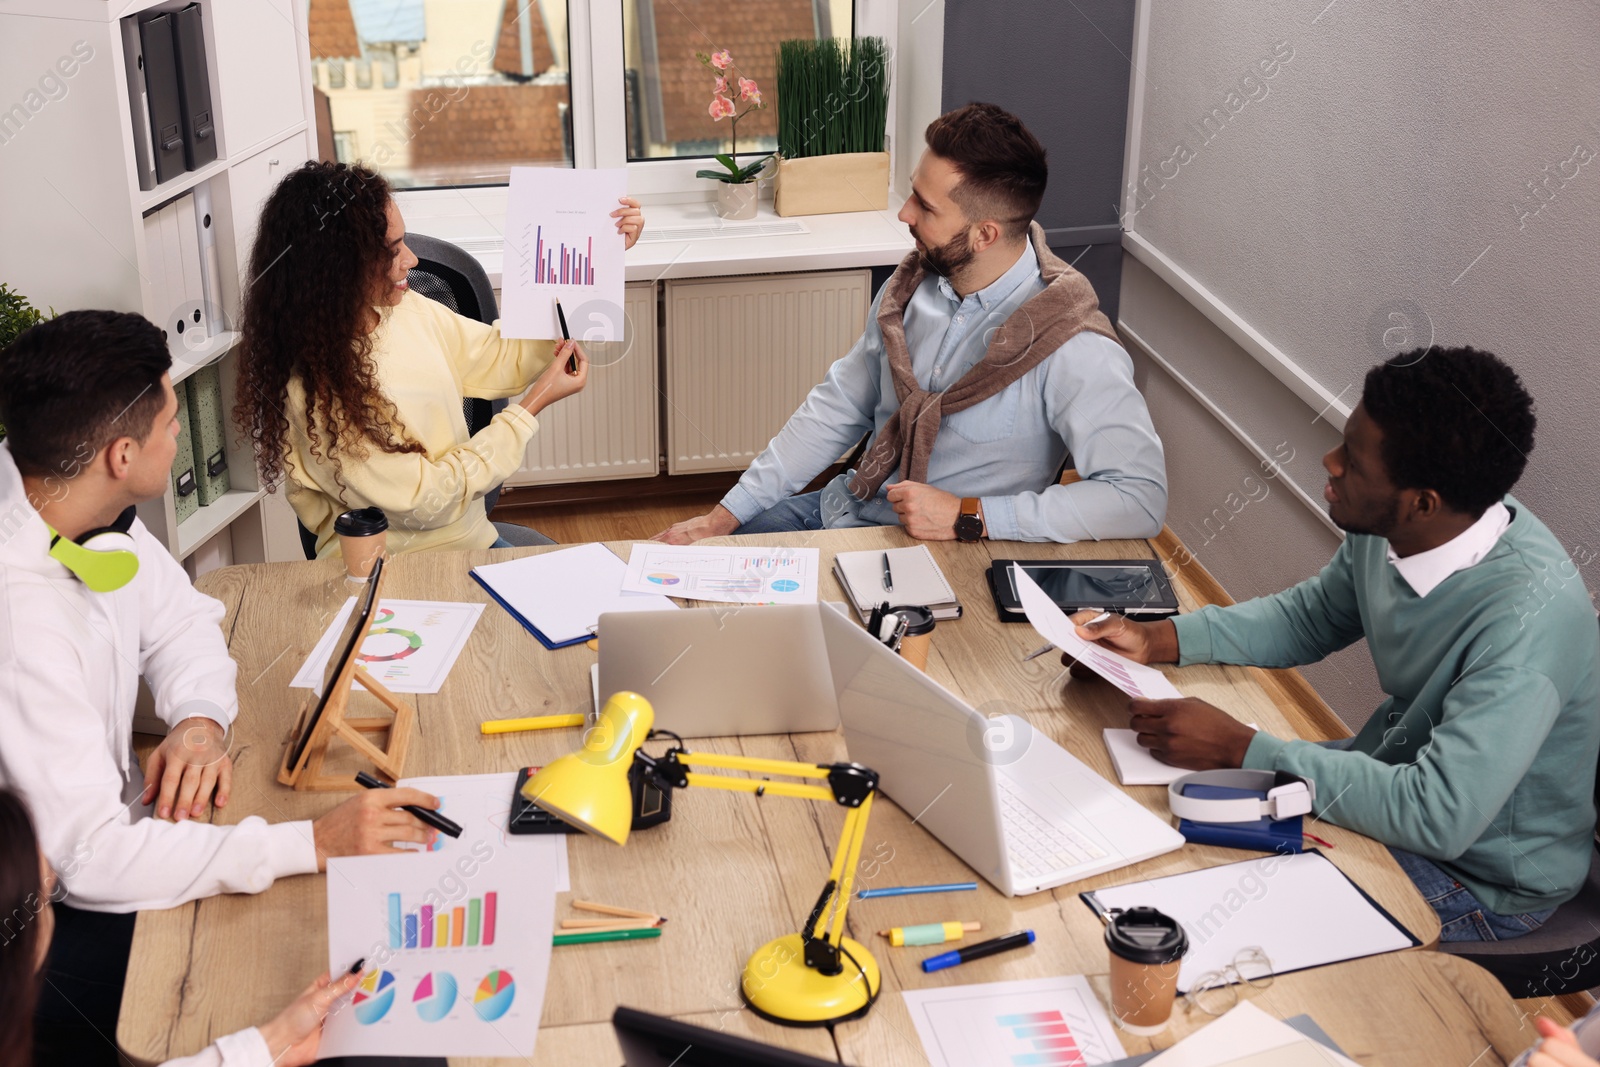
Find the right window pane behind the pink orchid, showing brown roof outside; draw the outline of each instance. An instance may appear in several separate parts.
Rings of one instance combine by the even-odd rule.
[[[853,30],[851,0],[624,0],[627,158],[728,150],[730,123],[712,120],[712,75],[696,59],[696,53],[718,50],[733,54],[738,72],[752,78],[768,102],[739,120],[739,154],[774,150],[778,42],[848,38]],[[733,99],[742,114],[738,93]]]

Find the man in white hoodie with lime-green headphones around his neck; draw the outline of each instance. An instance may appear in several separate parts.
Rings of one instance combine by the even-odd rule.
[[[134,518],[171,477],[170,366],[162,331],[120,312],[69,312],[0,352],[0,785],[30,805],[59,875],[35,1062],[115,1062],[133,912],[429,841],[397,808],[438,806],[386,789],[314,822],[197,821],[213,793],[227,803],[238,699],[222,605]],[[141,675],[171,728],[146,774]]]

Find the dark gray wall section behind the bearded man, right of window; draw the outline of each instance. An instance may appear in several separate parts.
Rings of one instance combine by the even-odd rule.
[[[1133,0],[946,0],[944,110],[1018,115],[1050,154],[1038,224],[1117,317],[1117,200],[1128,120]]]

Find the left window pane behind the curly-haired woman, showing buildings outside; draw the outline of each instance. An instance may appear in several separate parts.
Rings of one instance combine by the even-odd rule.
[[[310,0],[309,37],[341,162],[397,189],[573,165],[566,0]]]

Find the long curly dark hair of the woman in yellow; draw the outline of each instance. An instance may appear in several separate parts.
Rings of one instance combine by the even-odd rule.
[[[389,182],[365,166],[312,160],[267,197],[250,253],[234,421],[266,485],[283,475],[288,387],[306,390],[307,437],[318,459],[419,453],[378,387],[373,294],[382,286]]]

